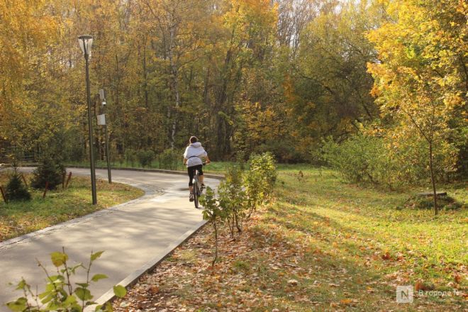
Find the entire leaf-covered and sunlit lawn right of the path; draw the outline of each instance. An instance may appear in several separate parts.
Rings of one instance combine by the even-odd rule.
[[[223,228],[214,269],[208,224],[114,308],[468,311],[468,190],[444,190],[462,208],[434,217],[433,211],[403,207],[419,189],[363,189],[340,182],[330,170],[283,166],[274,202],[235,240]],[[400,285],[423,292],[415,290],[414,303],[396,303]],[[435,291],[445,295],[432,296]]]

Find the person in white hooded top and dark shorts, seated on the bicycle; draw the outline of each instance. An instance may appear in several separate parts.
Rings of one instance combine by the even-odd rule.
[[[199,170],[199,179],[201,187],[205,186],[203,179],[203,161],[201,158],[206,158],[206,163],[210,162],[208,153],[201,146],[199,139],[196,136],[191,136],[189,140],[189,146],[186,147],[184,152],[184,165],[187,166],[187,172],[189,172],[189,201],[194,201],[194,183],[192,182],[195,175],[195,170]]]

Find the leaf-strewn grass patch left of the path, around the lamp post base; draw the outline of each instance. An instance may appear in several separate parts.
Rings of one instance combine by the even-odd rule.
[[[29,184],[30,175],[26,175]],[[8,175],[0,173],[0,184],[6,186]],[[89,177],[74,176],[68,189],[62,186],[48,191],[45,199],[43,190],[30,189],[31,201],[9,202],[0,197],[0,241],[47,228],[50,225],[84,216],[94,211],[121,204],[143,195],[143,191],[126,184],[108,184],[97,180],[98,204],[91,204],[91,182]]]

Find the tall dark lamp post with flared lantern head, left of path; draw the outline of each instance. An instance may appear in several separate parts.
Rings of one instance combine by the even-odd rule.
[[[91,163],[91,192],[93,205],[97,204],[96,195],[96,169],[94,168],[94,146],[93,146],[93,123],[91,118],[91,91],[89,90],[89,55],[93,45],[92,35],[80,35],[78,37],[79,47],[82,48],[86,64],[86,89],[88,96],[88,131],[89,131],[89,162]]]

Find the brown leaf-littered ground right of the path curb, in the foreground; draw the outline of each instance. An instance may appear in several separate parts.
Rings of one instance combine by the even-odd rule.
[[[290,240],[284,229],[263,221],[263,217],[247,221],[245,232],[235,241],[224,230],[221,260],[214,268],[213,233],[204,227],[141,277],[126,298],[113,303],[114,309],[407,311],[394,302],[391,277],[379,279],[377,272],[368,274],[364,264],[366,268],[356,269],[355,263],[334,260],[336,255],[317,247],[313,236],[292,233],[296,238]],[[438,310],[430,301],[419,302],[415,311],[422,308]]]

